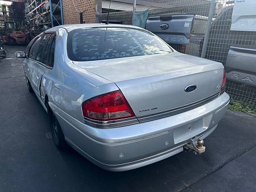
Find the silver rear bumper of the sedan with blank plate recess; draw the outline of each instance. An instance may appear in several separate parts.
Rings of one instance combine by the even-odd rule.
[[[125,171],[163,160],[183,151],[189,139],[210,135],[223,118],[229,103],[224,93],[213,101],[167,118],[130,126],[89,127],[50,103],[73,148],[101,168]]]

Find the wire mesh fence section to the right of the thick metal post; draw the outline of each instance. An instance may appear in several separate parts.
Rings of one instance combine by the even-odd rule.
[[[226,66],[230,46],[256,46],[256,32],[231,31],[233,1],[216,1],[216,15],[209,30],[206,59],[221,62]],[[243,63],[241,63],[243,65]],[[226,91],[251,108],[256,108],[256,87],[227,80]]]

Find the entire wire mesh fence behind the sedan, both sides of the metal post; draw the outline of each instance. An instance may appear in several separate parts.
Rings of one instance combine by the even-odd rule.
[[[221,62],[225,66],[230,46],[256,46],[256,32],[230,31],[234,1],[228,0],[214,0],[213,18],[207,28],[210,6],[209,0],[151,0],[148,5],[137,5],[136,11],[148,9],[148,18],[165,14],[194,14],[189,43],[171,44],[171,46],[179,52],[200,57],[203,42],[207,41],[205,58]],[[107,15],[107,12],[102,12],[100,19],[106,20]],[[118,20],[122,24],[132,24],[132,19],[133,11],[109,12],[109,20]],[[209,36],[205,40],[207,30]],[[256,108],[256,87],[228,80],[226,91],[232,98]]]

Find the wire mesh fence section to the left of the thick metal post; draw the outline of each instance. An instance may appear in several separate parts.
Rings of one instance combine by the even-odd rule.
[[[171,0],[150,3],[151,5],[137,5],[136,11],[149,10],[148,17],[165,14],[195,14],[195,19],[191,29],[190,43],[185,45],[171,44],[179,52],[189,55],[200,56],[203,46],[204,33],[207,26],[207,19],[210,9],[210,1],[202,0]],[[111,6],[110,6],[111,9]],[[100,15],[101,20],[106,20],[108,12],[104,11]],[[122,24],[132,24],[133,11],[110,12],[109,20],[118,20]]]

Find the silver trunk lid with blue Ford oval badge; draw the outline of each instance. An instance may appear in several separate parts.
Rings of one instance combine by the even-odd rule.
[[[222,64],[178,52],[74,63],[115,82],[141,121],[202,103],[223,76]]]

